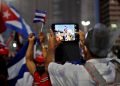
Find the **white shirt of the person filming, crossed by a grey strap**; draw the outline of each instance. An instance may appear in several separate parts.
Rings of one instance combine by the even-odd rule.
[[[103,75],[109,83],[115,78],[115,67],[106,59],[91,59],[96,69]],[[51,62],[48,66],[52,86],[95,86],[91,75],[83,65],[75,65],[66,62],[64,65]]]

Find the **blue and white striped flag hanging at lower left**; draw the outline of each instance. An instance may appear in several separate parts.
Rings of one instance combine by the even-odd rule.
[[[26,67],[25,60],[27,47],[28,41],[7,65],[9,86],[32,86],[33,77]]]

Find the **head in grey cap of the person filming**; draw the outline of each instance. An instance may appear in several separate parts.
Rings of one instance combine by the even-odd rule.
[[[104,58],[110,50],[110,31],[103,24],[96,24],[85,40],[88,50],[96,58]]]

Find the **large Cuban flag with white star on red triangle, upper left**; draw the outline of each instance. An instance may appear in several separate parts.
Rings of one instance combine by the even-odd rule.
[[[6,27],[20,33],[23,38],[27,38],[32,29],[19,12],[13,6],[8,6],[5,3],[1,3],[1,9]]]

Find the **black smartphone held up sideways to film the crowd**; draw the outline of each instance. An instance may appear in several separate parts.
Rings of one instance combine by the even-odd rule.
[[[79,41],[79,35],[76,34],[79,31],[79,26],[76,23],[52,24],[52,30],[57,41]]]

